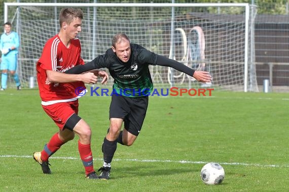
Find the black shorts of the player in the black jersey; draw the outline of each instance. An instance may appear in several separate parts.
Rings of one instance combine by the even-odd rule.
[[[140,132],[149,105],[149,97],[130,98],[123,95],[112,95],[110,119],[124,120],[124,128],[137,136]]]

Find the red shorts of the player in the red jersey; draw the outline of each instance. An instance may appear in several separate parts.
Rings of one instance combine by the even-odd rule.
[[[53,105],[42,106],[44,111],[62,130],[67,119],[75,114],[78,114],[78,100],[73,102],[63,102]]]

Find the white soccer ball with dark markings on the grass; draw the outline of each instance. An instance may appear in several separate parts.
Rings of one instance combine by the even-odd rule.
[[[225,170],[218,163],[207,163],[201,170],[201,178],[206,184],[220,184],[225,178]]]

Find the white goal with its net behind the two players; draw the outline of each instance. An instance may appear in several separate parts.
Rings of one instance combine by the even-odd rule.
[[[5,3],[5,20],[13,22],[21,39],[17,71],[25,87],[37,86],[35,63],[47,39],[59,31],[58,15],[64,7],[84,12],[79,38],[86,62],[104,54],[116,33],[125,33],[132,43],[195,70],[209,71],[213,78],[211,84],[202,84],[174,69],[150,66],[156,88],[205,85],[215,90],[258,91],[257,8],[249,4]]]

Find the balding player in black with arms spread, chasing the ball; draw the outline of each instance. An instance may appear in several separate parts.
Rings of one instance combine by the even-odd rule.
[[[93,69],[108,68],[114,78],[113,91],[116,94],[112,95],[110,128],[102,143],[104,162],[103,167],[98,170],[101,170],[100,179],[110,178],[111,162],[117,149],[117,142],[131,146],[141,130],[149,103],[146,93],[153,90],[149,65],[172,67],[200,82],[211,81],[209,72],[194,71],[182,63],[150,52],[138,44],[130,43],[125,34],[116,34],[111,49],[108,49],[105,54],[65,72],[79,74]],[[121,131],[123,122],[124,129]]]

